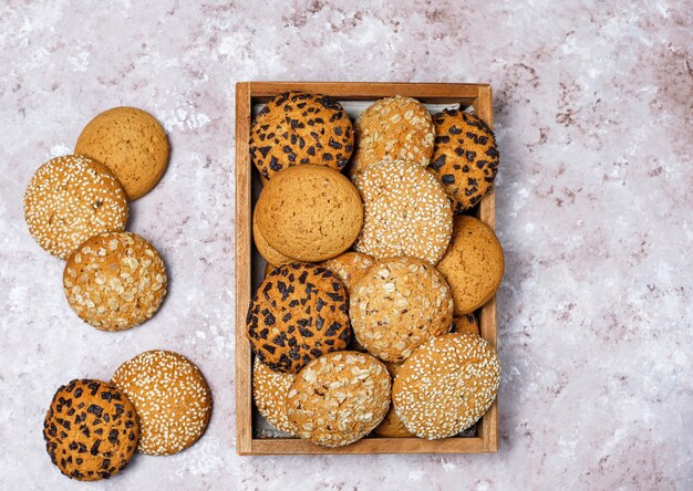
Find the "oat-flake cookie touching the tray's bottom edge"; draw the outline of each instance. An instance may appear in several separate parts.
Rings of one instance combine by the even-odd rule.
[[[390,407],[390,375],[374,357],[338,352],[309,363],[287,395],[297,435],[321,447],[343,447],[365,437]]]

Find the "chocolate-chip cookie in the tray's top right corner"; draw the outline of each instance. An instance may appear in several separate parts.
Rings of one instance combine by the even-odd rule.
[[[498,171],[496,137],[482,119],[458,109],[436,113],[433,122],[431,168],[441,177],[453,211],[461,215],[493,189]]]

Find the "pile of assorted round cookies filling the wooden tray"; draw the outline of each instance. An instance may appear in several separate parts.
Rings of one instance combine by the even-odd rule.
[[[473,427],[500,379],[475,311],[500,284],[503,250],[472,216],[496,177],[493,132],[405,96],[352,123],[330,96],[289,92],[249,144],[268,263],[246,326],[258,411],[323,447]]]

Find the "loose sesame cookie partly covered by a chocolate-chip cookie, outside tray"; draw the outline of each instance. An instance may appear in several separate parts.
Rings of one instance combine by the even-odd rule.
[[[111,382],[137,410],[139,453],[178,453],[207,429],[211,416],[209,386],[199,368],[178,353],[141,353],[121,365]]]

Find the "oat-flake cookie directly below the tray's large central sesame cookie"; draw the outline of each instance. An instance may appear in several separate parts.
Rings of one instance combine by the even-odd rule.
[[[354,335],[371,354],[403,362],[422,343],[449,331],[453,297],[445,280],[425,261],[379,261],[359,280],[349,300]]]

